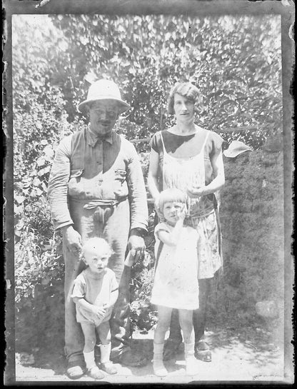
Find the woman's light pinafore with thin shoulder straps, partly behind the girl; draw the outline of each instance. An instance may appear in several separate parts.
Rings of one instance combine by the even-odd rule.
[[[204,146],[208,141],[210,131],[206,131],[201,151],[192,157],[175,157],[167,153],[163,136],[163,190],[178,188],[186,191],[188,186],[205,185]],[[216,211],[208,196],[200,198],[188,197],[188,210],[190,217],[188,223],[196,229],[199,236],[198,247],[198,279],[213,278],[214,273],[222,266],[219,253],[218,227]]]

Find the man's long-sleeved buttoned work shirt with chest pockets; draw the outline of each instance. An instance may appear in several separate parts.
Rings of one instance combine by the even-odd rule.
[[[54,228],[73,223],[68,206],[71,199],[88,203],[128,197],[131,229],[146,230],[146,188],[133,144],[114,131],[103,140],[89,129],[84,131],[84,136],[73,138],[72,134],[62,139],[56,149],[48,186]]]

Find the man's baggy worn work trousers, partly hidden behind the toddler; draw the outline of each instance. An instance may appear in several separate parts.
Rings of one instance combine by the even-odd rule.
[[[89,206],[86,201],[69,201],[74,229],[81,234],[82,243],[89,238],[100,237],[109,242],[114,253],[108,267],[116,274],[119,283],[119,298],[111,315],[112,347],[119,347],[120,339],[129,338],[129,278],[130,268],[125,267],[124,257],[129,237],[129,201],[116,206]],[[69,362],[84,361],[84,335],[76,323],[76,308],[71,299],[74,279],[86,268],[79,256],[71,253],[63,244],[65,261],[65,353]]]

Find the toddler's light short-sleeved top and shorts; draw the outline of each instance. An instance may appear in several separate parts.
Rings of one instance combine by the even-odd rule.
[[[79,276],[74,280],[74,288],[71,294],[71,298],[84,298],[88,303],[102,306],[104,304],[110,304],[111,293],[119,288],[116,282],[116,275],[114,271],[109,268],[105,268],[101,274],[91,273],[89,268],[82,271]],[[110,318],[112,307],[106,310],[106,321]],[[93,315],[80,306],[76,305],[76,320],[81,322],[94,322]],[[96,320],[95,320],[96,321]],[[95,324],[98,325],[96,322]]]

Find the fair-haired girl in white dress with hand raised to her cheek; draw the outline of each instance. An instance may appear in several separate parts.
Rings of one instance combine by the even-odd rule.
[[[186,373],[196,373],[193,310],[198,303],[198,233],[183,226],[186,194],[170,188],[160,193],[156,211],[161,223],[155,228],[155,276],[151,303],[158,307],[158,324],[153,338],[153,372],[167,375],[163,365],[163,345],[173,308],[178,309],[185,345]],[[162,221],[163,220],[163,221]]]

